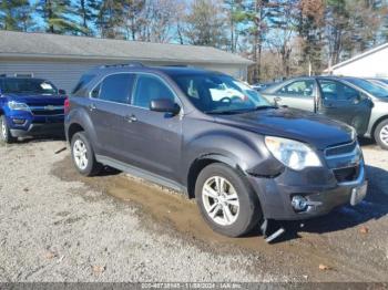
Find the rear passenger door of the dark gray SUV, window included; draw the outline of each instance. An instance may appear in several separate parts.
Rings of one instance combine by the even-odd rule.
[[[108,75],[92,91],[88,110],[92,118],[101,154],[123,160],[126,136],[123,130],[130,115],[130,97],[135,75]]]

